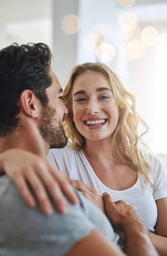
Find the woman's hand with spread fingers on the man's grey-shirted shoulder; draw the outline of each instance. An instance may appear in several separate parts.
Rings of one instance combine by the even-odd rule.
[[[48,160],[35,160],[33,165],[24,168],[22,173],[22,176],[17,175],[17,179],[13,177],[12,180],[14,180],[28,206],[34,207],[36,205],[35,199],[37,198],[42,212],[46,215],[51,215],[53,213],[53,203],[59,212],[65,213],[67,211],[65,195],[71,203],[79,203],[79,198],[74,192],[68,177],[50,164]],[[31,189],[26,183],[27,181],[34,193],[31,193]],[[46,189],[53,202],[48,197]],[[34,195],[36,198],[34,198]]]

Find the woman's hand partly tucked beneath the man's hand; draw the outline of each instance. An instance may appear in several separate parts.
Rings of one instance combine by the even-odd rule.
[[[91,186],[86,185],[80,180],[72,180],[73,185],[75,188],[82,193],[86,198],[88,198],[90,201],[92,201],[94,204],[96,204],[97,207],[99,207],[104,213],[105,213],[105,207],[103,198],[101,195],[99,195],[99,192]]]

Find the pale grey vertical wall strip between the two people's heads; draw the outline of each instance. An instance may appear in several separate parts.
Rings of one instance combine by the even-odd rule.
[[[61,22],[68,14],[78,16],[78,0],[54,0],[54,71],[62,84],[77,64],[78,33],[67,35],[62,31]]]

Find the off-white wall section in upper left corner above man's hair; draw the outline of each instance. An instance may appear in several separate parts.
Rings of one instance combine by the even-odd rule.
[[[11,43],[52,44],[52,0],[0,0],[0,49]]]

